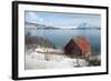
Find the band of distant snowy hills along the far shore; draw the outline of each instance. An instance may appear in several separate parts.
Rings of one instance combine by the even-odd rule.
[[[46,26],[46,24],[40,24],[40,23],[31,23],[31,22],[26,22],[26,28],[27,29],[56,29],[56,30],[84,30],[84,29],[97,29],[100,30],[101,28],[98,26],[92,26],[92,24],[88,24],[88,23],[81,23],[80,26],[78,26],[77,28],[71,27],[71,28],[61,28],[61,27],[52,27],[52,26]]]

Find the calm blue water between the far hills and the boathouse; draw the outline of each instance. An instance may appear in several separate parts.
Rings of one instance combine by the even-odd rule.
[[[93,52],[100,53],[101,30],[31,30],[32,36],[44,36],[57,47],[62,49],[74,36],[83,36],[90,43]],[[27,32],[27,31],[26,31]]]

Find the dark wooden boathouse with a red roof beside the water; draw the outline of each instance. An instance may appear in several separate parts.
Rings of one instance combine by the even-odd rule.
[[[91,54],[91,47],[84,37],[77,36],[64,47],[64,53],[71,58],[88,58]]]

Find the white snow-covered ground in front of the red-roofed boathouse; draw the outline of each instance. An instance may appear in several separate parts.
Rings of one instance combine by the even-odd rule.
[[[88,65],[88,62],[84,59],[71,59],[63,54],[40,53],[37,50],[39,51],[40,49],[36,49],[30,53],[26,52],[26,70],[57,69],[57,68],[61,69],[61,68],[74,68],[78,65],[80,67]]]

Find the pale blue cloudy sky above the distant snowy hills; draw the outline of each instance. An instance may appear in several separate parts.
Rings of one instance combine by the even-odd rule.
[[[78,28],[83,23],[87,23],[88,26],[101,27],[100,14],[87,13],[26,11],[26,21],[57,28]]]

